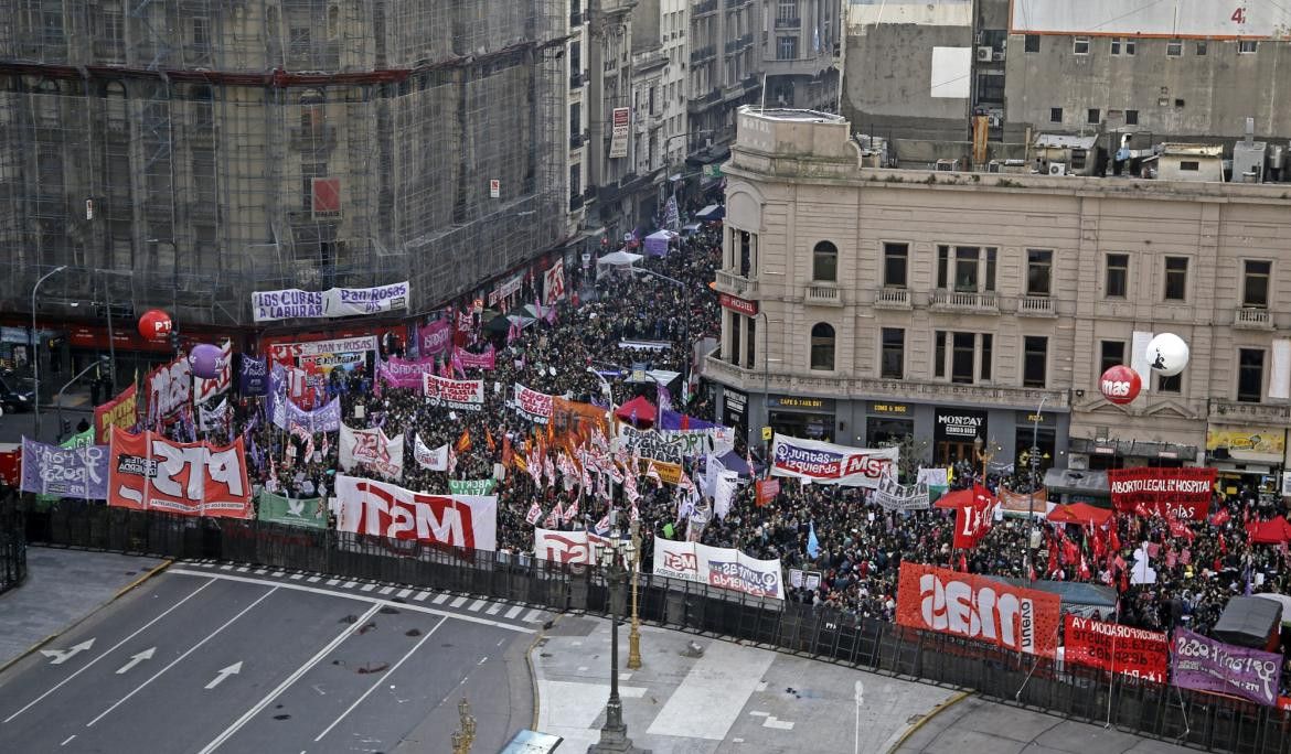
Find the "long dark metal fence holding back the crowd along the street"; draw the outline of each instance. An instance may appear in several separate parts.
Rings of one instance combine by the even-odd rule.
[[[62,501],[28,512],[27,539],[52,545],[214,558],[461,592],[555,611],[622,612],[599,568],[505,553],[261,521],[142,513]],[[851,666],[977,691],[984,697],[1214,751],[1291,754],[1291,713],[917,632],[834,610],[781,603],[643,574],[642,620],[731,637]],[[612,594],[617,593],[612,604]]]

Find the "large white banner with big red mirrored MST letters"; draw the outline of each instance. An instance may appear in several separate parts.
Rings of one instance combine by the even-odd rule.
[[[497,549],[496,495],[426,495],[389,482],[337,474],[336,499],[340,531]]]

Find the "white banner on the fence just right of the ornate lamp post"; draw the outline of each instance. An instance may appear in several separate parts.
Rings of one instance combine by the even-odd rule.
[[[778,558],[759,561],[727,548],[656,539],[655,575],[742,592],[753,597],[785,598]]]

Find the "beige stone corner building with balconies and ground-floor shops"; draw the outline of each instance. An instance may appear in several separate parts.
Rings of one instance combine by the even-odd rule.
[[[939,463],[975,438],[1025,460],[1034,438],[1044,468],[1210,463],[1272,486],[1291,424],[1285,187],[866,169],[849,131],[740,111],[705,365],[726,423],[911,434]],[[1179,378],[1148,369],[1159,333],[1192,349]],[[1115,363],[1144,375],[1124,407],[1099,392]]]

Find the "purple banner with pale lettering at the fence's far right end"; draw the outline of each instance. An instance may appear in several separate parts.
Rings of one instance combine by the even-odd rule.
[[[1175,629],[1174,644],[1176,686],[1277,704],[1281,655],[1225,644],[1188,629]]]

